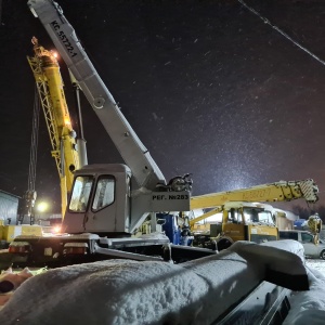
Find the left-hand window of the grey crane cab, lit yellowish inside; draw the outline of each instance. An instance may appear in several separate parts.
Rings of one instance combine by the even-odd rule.
[[[76,178],[69,204],[70,211],[86,212],[92,183],[93,177],[83,176]]]

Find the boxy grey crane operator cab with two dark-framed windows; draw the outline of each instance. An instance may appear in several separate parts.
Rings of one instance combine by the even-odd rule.
[[[130,169],[119,164],[88,165],[77,170],[62,231],[128,232],[130,179]]]

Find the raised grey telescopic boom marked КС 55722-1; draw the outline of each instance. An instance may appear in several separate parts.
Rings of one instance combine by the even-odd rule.
[[[139,186],[154,190],[157,184],[166,184],[160,169],[121,114],[60,5],[51,0],[29,0],[28,5],[49,32]]]

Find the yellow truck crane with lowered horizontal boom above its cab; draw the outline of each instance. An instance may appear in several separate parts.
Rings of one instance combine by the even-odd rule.
[[[304,198],[308,204],[318,200],[318,187],[313,180],[280,181],[243,190],[192,196],[191,209],[209,209],[206,213],[190,220],[194,232],[194,244],[209,245],[217,238],[218,249],[227,248],[237,240],[263,243],[278,238],[276,213],[272,206],[260,204],[291,202]],[[196,232],[195,225],[216,213],[222,213],[222,221],[210,224],[206,234]],[[196,227],[197,230],[197,227]]]

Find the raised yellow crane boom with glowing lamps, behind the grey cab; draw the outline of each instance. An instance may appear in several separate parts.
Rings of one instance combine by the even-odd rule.
[[[27,56],[27,60],[36,80],[52,145],[52,156],[60,174],[62,216],[64,217],[68,193],[73,186],[74,171],[87,164],[84,142],[78,141],[77,143],[76,132],[72,126],[56,58],[57,53],[46,50],[35,37],[31,42],[35,55]]]

